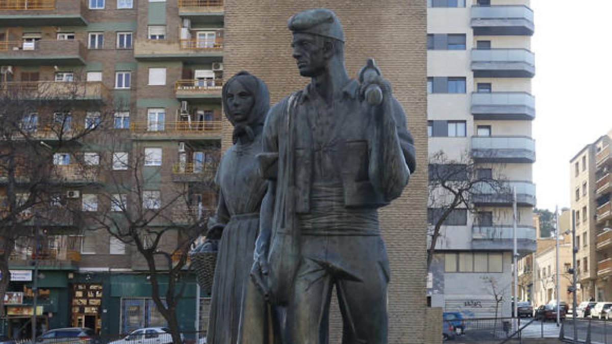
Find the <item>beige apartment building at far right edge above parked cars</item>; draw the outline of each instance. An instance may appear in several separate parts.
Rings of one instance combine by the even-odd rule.
[[[612,131],[581,149],[570,160],[571,208],[575,212],[580,300],[612,299],[610,259],[610,141]]]

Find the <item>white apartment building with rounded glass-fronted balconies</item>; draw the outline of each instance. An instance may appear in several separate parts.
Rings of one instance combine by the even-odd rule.
[[[528,0],[428,0],[428,151],[459,163],[472,159],[480,175],[516,190],[519,255],[535,250],[533,31]],[[502,316],[509,316],[511,197],[476,189],[476,213],[457,209],[442,228],[431,304],[493,316],[498,294]]]

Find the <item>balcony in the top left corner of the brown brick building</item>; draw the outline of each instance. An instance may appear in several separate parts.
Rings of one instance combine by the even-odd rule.
[[[86,26],[82,0],[2,0],[3,26]]]

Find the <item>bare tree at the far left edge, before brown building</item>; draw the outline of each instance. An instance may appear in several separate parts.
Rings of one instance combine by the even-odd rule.
[[[88,140],[109,113],[102,84],[78,80],[10,82],[6,74],[2,77],[0,315],[10,282],[9,258],[18,241],[27,242],[19,238],[32,236],[50,222],[62,219],[50,207],[50,191],[61,187],[55,154],[69,152],[75,143]],[[81,108],[84,99],[89,115]]]

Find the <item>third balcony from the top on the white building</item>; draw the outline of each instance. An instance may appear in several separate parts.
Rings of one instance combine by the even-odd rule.
[[[531,121],[535,98],[525,92],[472,93],[474,119]]]

